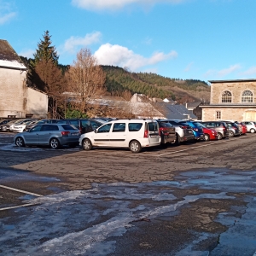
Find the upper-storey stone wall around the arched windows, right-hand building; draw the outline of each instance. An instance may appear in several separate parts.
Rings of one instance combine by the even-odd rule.
[[[229,90],[232,94],[232,103],[241,103],[241,95],[244,90],[253,92],[253,102],[256,102],[256,81],[234,81],[224,83],[212,83],[210,104],[222,103],[222,93]],[[229,103],[226,103],[229,104]]]

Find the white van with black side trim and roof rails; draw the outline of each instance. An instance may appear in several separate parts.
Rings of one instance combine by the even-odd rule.
[[[84,150],[93,147],[120,147],[139,153],[142,148],[160,145],[159,125],[153,119],[117,119],[102,125],[96,131],[82,134],[79,145]]]

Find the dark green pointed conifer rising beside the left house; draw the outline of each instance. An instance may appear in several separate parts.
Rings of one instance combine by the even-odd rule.
[[[51,36],[49,36],[49,31],[45,31],[43,39],[40,39],[38,49],[36,49],[36,53],[34,54],[35,66],[37,66],[39,61],[52,61],[55,66],[58,65],[59,55],[57,54],[55,46],[51,45],[52,42],[50,38]]]

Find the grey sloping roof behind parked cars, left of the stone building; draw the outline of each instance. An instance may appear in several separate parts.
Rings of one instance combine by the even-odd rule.
[[[172,105],[169,103],[156,103],[158,110],[166,117],[166,119],[197,119],[192,111],[183,105]]]

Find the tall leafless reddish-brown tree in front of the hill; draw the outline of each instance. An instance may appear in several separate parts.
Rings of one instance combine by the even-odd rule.
[[[91,55],[90,49],[80,49],[76,61],[66,73],[67,91],[73,94],[73,108],[84,113],[91,108],[93,100],[106,92],[106,75]]]

